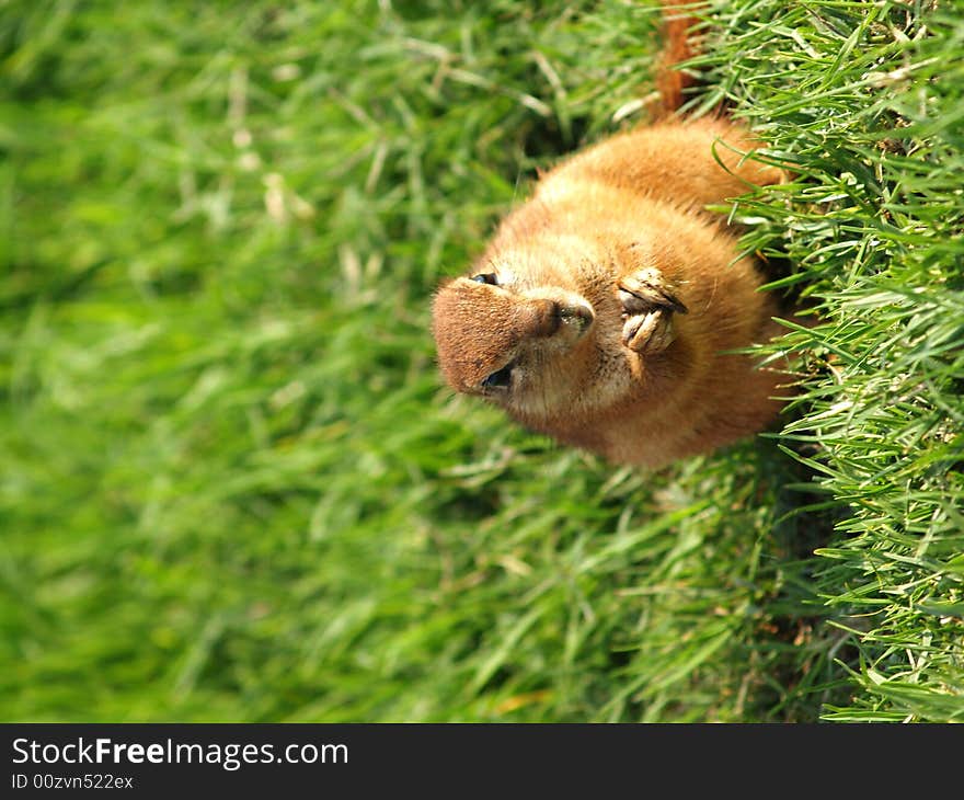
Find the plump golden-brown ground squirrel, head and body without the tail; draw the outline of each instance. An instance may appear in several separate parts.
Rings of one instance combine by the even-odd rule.
[[[770,339],[776,304],[704,210],[782,180],[743,158],[759,146],[726,121],[664,122],[543,175],[469,275],[436,293],[448,384],[653,468],[766,427],[784,376],[728,351]]]

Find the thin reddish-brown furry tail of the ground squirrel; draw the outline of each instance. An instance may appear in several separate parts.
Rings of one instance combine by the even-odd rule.
[[[688,89],[699,83],[691,71],[679,69],[679,65],[699,53],[699,44],[693,35],[700,22],[697,12],[705,7],[696,0],[664,0],[662,39],[663,50],[656,65],[656,90],[658,100],[651,106],[653,116],[667,117],[682,107],[689,99]]]

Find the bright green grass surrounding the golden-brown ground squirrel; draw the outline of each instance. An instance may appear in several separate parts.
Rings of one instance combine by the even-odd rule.
[[[951,4],[711,3],[820,319],[782,433],[651,476],[436,374],[438,279],[643,121],[652,5],[0,8],[0,719],[964,719]]]

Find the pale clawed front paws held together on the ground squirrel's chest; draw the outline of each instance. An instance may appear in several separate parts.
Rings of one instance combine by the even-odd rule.
[[[636,353],[659,353],[673,343],[673,315],[686,313],[662,273],[653,267],[627,275],[618,285],[622,343]]]

